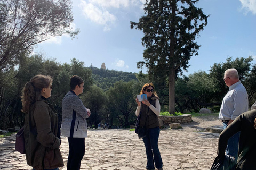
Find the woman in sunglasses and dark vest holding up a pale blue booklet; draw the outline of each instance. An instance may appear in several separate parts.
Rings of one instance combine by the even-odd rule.
[[[140,94],[146,94],[147,100],[136,98],[138,104],[136,109],[136,116],[140,116],[140,126],[146,126],[147,135],[142,138],[146,147],[147,166],[148,170],[155,169],[163,170],[163,161],[158,149],[158,137],[160,133],[158,117],[160,114],[159,98],[154,92],[154,86],[152,83],[146,83],[141,89]],[[155,163],[155,165],[154,165]]]

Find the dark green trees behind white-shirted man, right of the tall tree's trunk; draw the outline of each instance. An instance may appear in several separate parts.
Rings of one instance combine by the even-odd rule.
[[[176,110],[182,113],[199,112],[199,109],[204,107],[212,109],[212,112],[219,112],[221,101],[228,91],[223,81],[224,72],[232,67],[237,69],[239,78],[247,90],[250,107],[256,100],[256,87],[253,85],[256,81],[256,71],[255,64],[252,65],[251,62],[251,56],[235,60],[229,57],[226,62],[214,63],[209,74],[198,71],[188,77],[178,78],[175,81]]]

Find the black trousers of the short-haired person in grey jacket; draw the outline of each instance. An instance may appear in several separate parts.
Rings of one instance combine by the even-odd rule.
[[[85,152],[84,138],[68,138],[68,144],[67,170],[79,170]]]

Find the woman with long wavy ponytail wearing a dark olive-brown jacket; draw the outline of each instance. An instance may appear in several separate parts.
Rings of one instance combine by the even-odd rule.
[[[52,82],[49,76],[36,75],[25,84],[21,96],[26,160],[36,170],[64,166],[59,148],[58,114],[46,100],[51,96]]]

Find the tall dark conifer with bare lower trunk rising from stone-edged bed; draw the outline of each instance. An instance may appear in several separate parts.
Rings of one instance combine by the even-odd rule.
[[[145,61],[138,62],[137,67],[146,66],[150,79],[156,83],[169,84],[169,93],[165,95],[169,96],[170,113],[175,109],[175,76],[182,75],[181,69],[187,69],[191,56],[198,55],[200,45],[196,38],[207,25],[208,16],[194,6],[196,2],[146,1],[147,15],[138,23],[131,22],[131,29],[135,27],[144,33]]]

